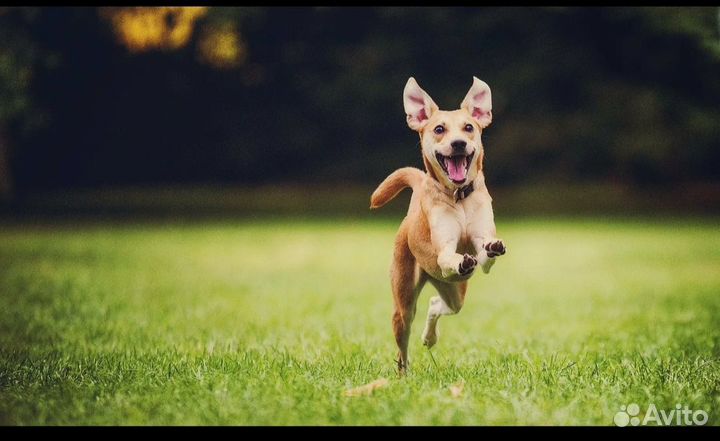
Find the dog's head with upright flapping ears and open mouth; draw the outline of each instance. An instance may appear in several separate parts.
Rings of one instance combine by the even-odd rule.
[[[492,122],[490,87],[476,77],[460,109],[440,110],[410,77],[403,92],[408,126],[420,134],[423,161],[443,185],[472,182],[482,167],[482,130]]]

